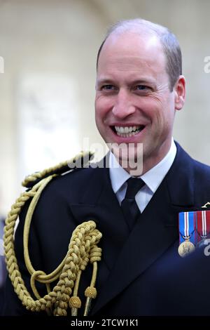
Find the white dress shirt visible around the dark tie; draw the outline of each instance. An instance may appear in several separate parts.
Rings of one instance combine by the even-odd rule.
[[[174,143],[174,139],[172,138],[172,145],[166,156],[148,172],[144,173],[142,176],[139,176],[139,178],[145,182],[144,187],[142,187],[141,190],[137,192],[135,197],[141,213],[146,208],[148,202],[150,202],[160,183],[162,183],[162,180],[165,178],[167,172],[172,166],[175,157],[176,145]],[[125,171],[125,169],[123,169],[123,167],[118,164],[116,157],[114,157],[111,152],[109,154],[109,175],[111,178],[113,192],[115,192],[118,202],[121,204],[125,198],[125,193],[127,190],[126,181],[131,176],[129,173],[127,173],[127,171]]]

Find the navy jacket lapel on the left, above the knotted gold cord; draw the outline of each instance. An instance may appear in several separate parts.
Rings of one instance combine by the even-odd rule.
[[[80,191],[79,203],[70,202],[70,208],[78,224],[87,220],[97,223],[97,229],[103,235],[99,244],[102,247],[102,260],[111,270],[129,235],[129,229],[112,190],[109,169],[90,171],[90,185],[86,182]]]

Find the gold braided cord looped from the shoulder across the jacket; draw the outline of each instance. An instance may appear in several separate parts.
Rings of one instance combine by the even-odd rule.
[[[43,173],[43,176],[45,176],[45,173]],[[95,266],[95,264],[97,261],[101,260],[102,255],[102,249],[99,249],[97,244],[101,239],[102,234],[99,232],[99,230],[96,229],[96,225],[92,220],[78,225],[71,236],[69,249],[66,253],[66,256],[64,257],[64,260],[62,260],[62,263],[56,268],[56,270],[48,275],[46,275],[41,270],[34,270],[33,266],[31,265],[28,251],[31,218],[41,192],[54,176],[56,175],[53,174],[43,178],[41,181],[36,183],[36,185],[34,185],[31,190],[20,195],[15,204],[13,204],[10,213],[8,213],[3,239],[8,275],[14,286],[15,293],[18,294],[22,304],[31,311],[39,312],[41,310],[45,310],[49,314],[50,311],[54,310],[54,315],[65,316],[66,309],[69,305],[72,308],[80,307],[80,301],[79,299],[75,299],[76,297],[74,298],[74,303],[73,301],[71,302],[71,298],[73,298],[71,297],[71,293],[76,279],[76,288],[74,292],[77,293],[80,273],[82,270],[85,270],[89,261],[94,265],[92,276],[93,279],[91,282],[94,285],[97,272],[97,266]],[[31,274],[31,288],[34,292],[34,295],[36,296],[36,300],[34,300],[30,293],[27,291],[25,283],[20,274],[15,256],[13,237],[15,221],[17,220],[22,207],[29,199],[32,200],[31,204],[29,205],[27,217],[25,220],[24,254],[27,270]],[[57,284],[54,286],[52,291],[50,291],[50,283],[57,279]],[[47,286],[48,294],[46,294],[43,298],[39,296],[39,293],[36,289],[36,281],[45,283]]]

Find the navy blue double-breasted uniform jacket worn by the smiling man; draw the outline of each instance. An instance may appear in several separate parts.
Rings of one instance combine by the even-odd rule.
[[[129,232],[109,169],[76,169],[52,180],[41,195],[31,223],[31,262],[36,270],[52,272],[66,255],[75,227],[95,220],[103,234],[102,260],[90,315],[210,315],[210,257],[202,249],[186,258],[177,251],[179,212],[198,210],[209,201],[210,167],[190,158],[177,144],[171,169]],[[22,253],[26,209],[15,249],[28,285]],[[81,298],[91,273],[88,267],[82,275]],[[8,281],[4,315],[27,313]]]

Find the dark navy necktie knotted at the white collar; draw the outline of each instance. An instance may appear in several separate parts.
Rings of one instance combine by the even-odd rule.
[[[129,178],[127,180],[127,190],[125,199],[123,199],[123,202],[121,203],[121,208],[130,230],[134,227],[137,218],[141,213],[135,200],[135,196],[144,185],[144,181],[140,178]]]

